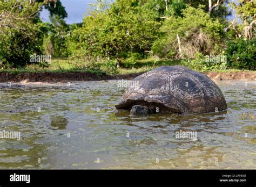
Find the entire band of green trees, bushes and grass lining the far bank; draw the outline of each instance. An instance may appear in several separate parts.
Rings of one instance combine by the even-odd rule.
[[[255,70],[255,2],[228,4],[234,20],[227,20],[225,3],[101,0],[91,4],[83,23],[68,25],[59,0],[1,0],[0,68],[126,74],[182,64],[198,71]],[[39,18],[43,8],[50,23]]]

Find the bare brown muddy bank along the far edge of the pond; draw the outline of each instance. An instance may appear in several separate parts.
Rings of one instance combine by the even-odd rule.
[[[69,81],[101,81],[101,80],[117,80],[117,79],[132,79],[138,74],[128,75],[95,75],[89,72],[78,73],[19,73],[9,74],[0,73],[0,82],[69,82]],[[254,71],[239,71],[233,73],[206,73],[214,81],[222,80],[256,80],[256,72]]]

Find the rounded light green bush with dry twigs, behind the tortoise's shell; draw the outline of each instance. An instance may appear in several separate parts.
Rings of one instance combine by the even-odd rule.
[[[182,11],[183,17],[170,17],[161,31],[165,34],[160,40],[154,42],[152,50],[159,57],[184,57],[194,58],[194,54],[210,54],[215,44],[223,39],[224,25],[218,19],[213,20],[202,9],[188,7]],[[178,36],[181,43],[179,52]]]

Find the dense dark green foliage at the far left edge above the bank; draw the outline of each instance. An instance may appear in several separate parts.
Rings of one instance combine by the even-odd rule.
[[[41,54],[40,28],[34,22],[42,5],[25,0],[0,2],[1,66],[22,67],[30,63],[31,54]]]

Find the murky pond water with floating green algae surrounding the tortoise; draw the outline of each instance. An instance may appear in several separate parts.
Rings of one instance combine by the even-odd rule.
[[[117,81],[2,89],[0,131],[21,140],[0,139],[0,169],[255,169],[256,82],[218,85],[228,111],[147,117],[115,110]]]

